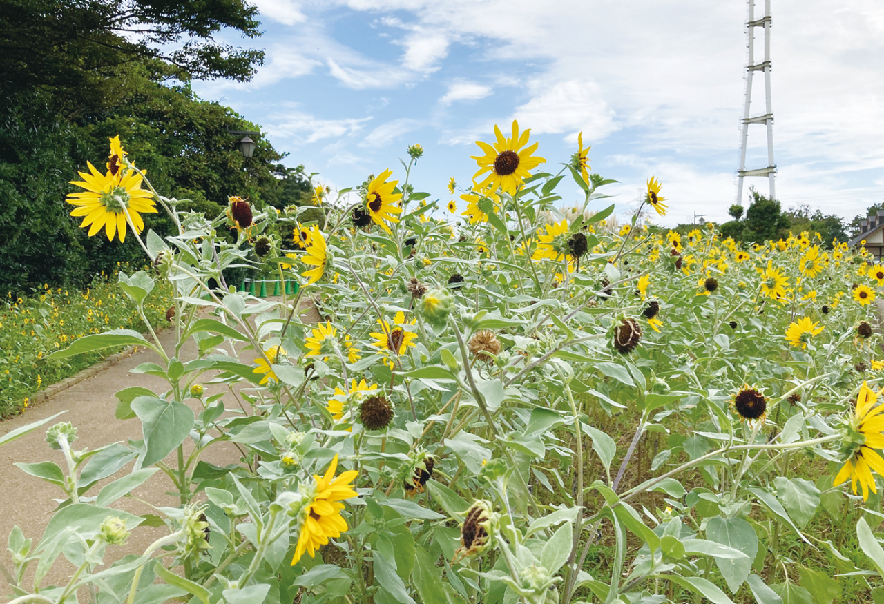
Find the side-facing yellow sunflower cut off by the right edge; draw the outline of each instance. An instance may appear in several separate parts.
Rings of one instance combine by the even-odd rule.
[[[847,419],[847,432],[850,434],[847,446],[852,449],[850,457],[834,477],[833,487],[850,479],[853,494],[857,495],[857,481],[863,489],[863,499],[869,498],[869,488],[877,493],[872,470],[884,474],[884,459],[874,449],[884,448],[884,405],[875,405],[880,393],[874,392],[863,382],[857,395],[857,406]],[[858,447],[857,447],[858,445]]]

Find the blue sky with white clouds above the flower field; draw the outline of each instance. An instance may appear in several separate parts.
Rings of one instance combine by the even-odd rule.
[[[229,42],[266,49],[265,65],[252,82],[194,90],[263,125],[287,163],[333,188],[387,168],[404,177],[399,158],[420,143],[411,182],[444,205],[448,178],[469,185],[476,171],[474,141],[517,118],[546,171],[568,161],[582,131],[592,170],[620,181],[606,187],[618,213],[636,207],[651,176],[669,199],[662,225],[695,212],[720,222],[735,202],[741,0],[255,4],[263,36]],[[884,200],[884,4],[773,0],[772,58],[783,206],[850,219]],[[754,87],[763,94],[758,76]],[[765,154],[764,128],[751,126],[747,168]],[[766,179],[746,184],[767,192]],[[560,193],[562,206],[581,198],[576,185]]]

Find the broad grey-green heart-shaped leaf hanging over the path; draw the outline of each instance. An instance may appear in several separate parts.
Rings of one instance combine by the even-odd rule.
[[[194,427],[194,411],[178,401],[164,401],[156,396],[138,396],[132,402],[141,419],[144,447],[141,467],[153,465],[179,446]]]

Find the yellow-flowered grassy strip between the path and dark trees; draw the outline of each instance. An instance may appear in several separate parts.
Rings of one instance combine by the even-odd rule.
[[[113,275],[102,274],[85,290],[50,288],[24,298],[0,303],[0,419],[18,414],[28,401],[52,383],[64,380],[120,349],[81,354],[64,361],[47,361],[50,352],[64,349],[75,339],[110,329],[144,330],[134,303],[117,285],[118,273],[135,269],[118,265]],[[145,301],[145,313],[154,325],[165,322],[171,306],[171,287],[157,283]]]

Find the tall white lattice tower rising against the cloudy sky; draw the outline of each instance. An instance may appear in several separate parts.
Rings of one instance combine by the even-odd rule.
[[[740,144],[740,170],[736,185],[736,202],[743,205],[743,177],[767,177],[770,185],[771,199],[776,199],[773,188],[773,175],[776,174],[776,164],[773,163],[773,107],[771,106],[771,0],[765,0],[765,14],[760,19],[755,17],[755,0],[746,0],[749,4],[749,19],[746,21],[746,35],[749,44],[749,60],[746,64],[746,99],[743,109],[743,138]],[[757,63],[755,58],[755,28],[764,27],[765,30],[765,57]],[[750,104],[752,101],[752,77],[757,72],[765,74],[765,112],[751,115]],[[746,143],[749,138],[749,126],[761,124],[767,126],[767,166],[746,170]]]

